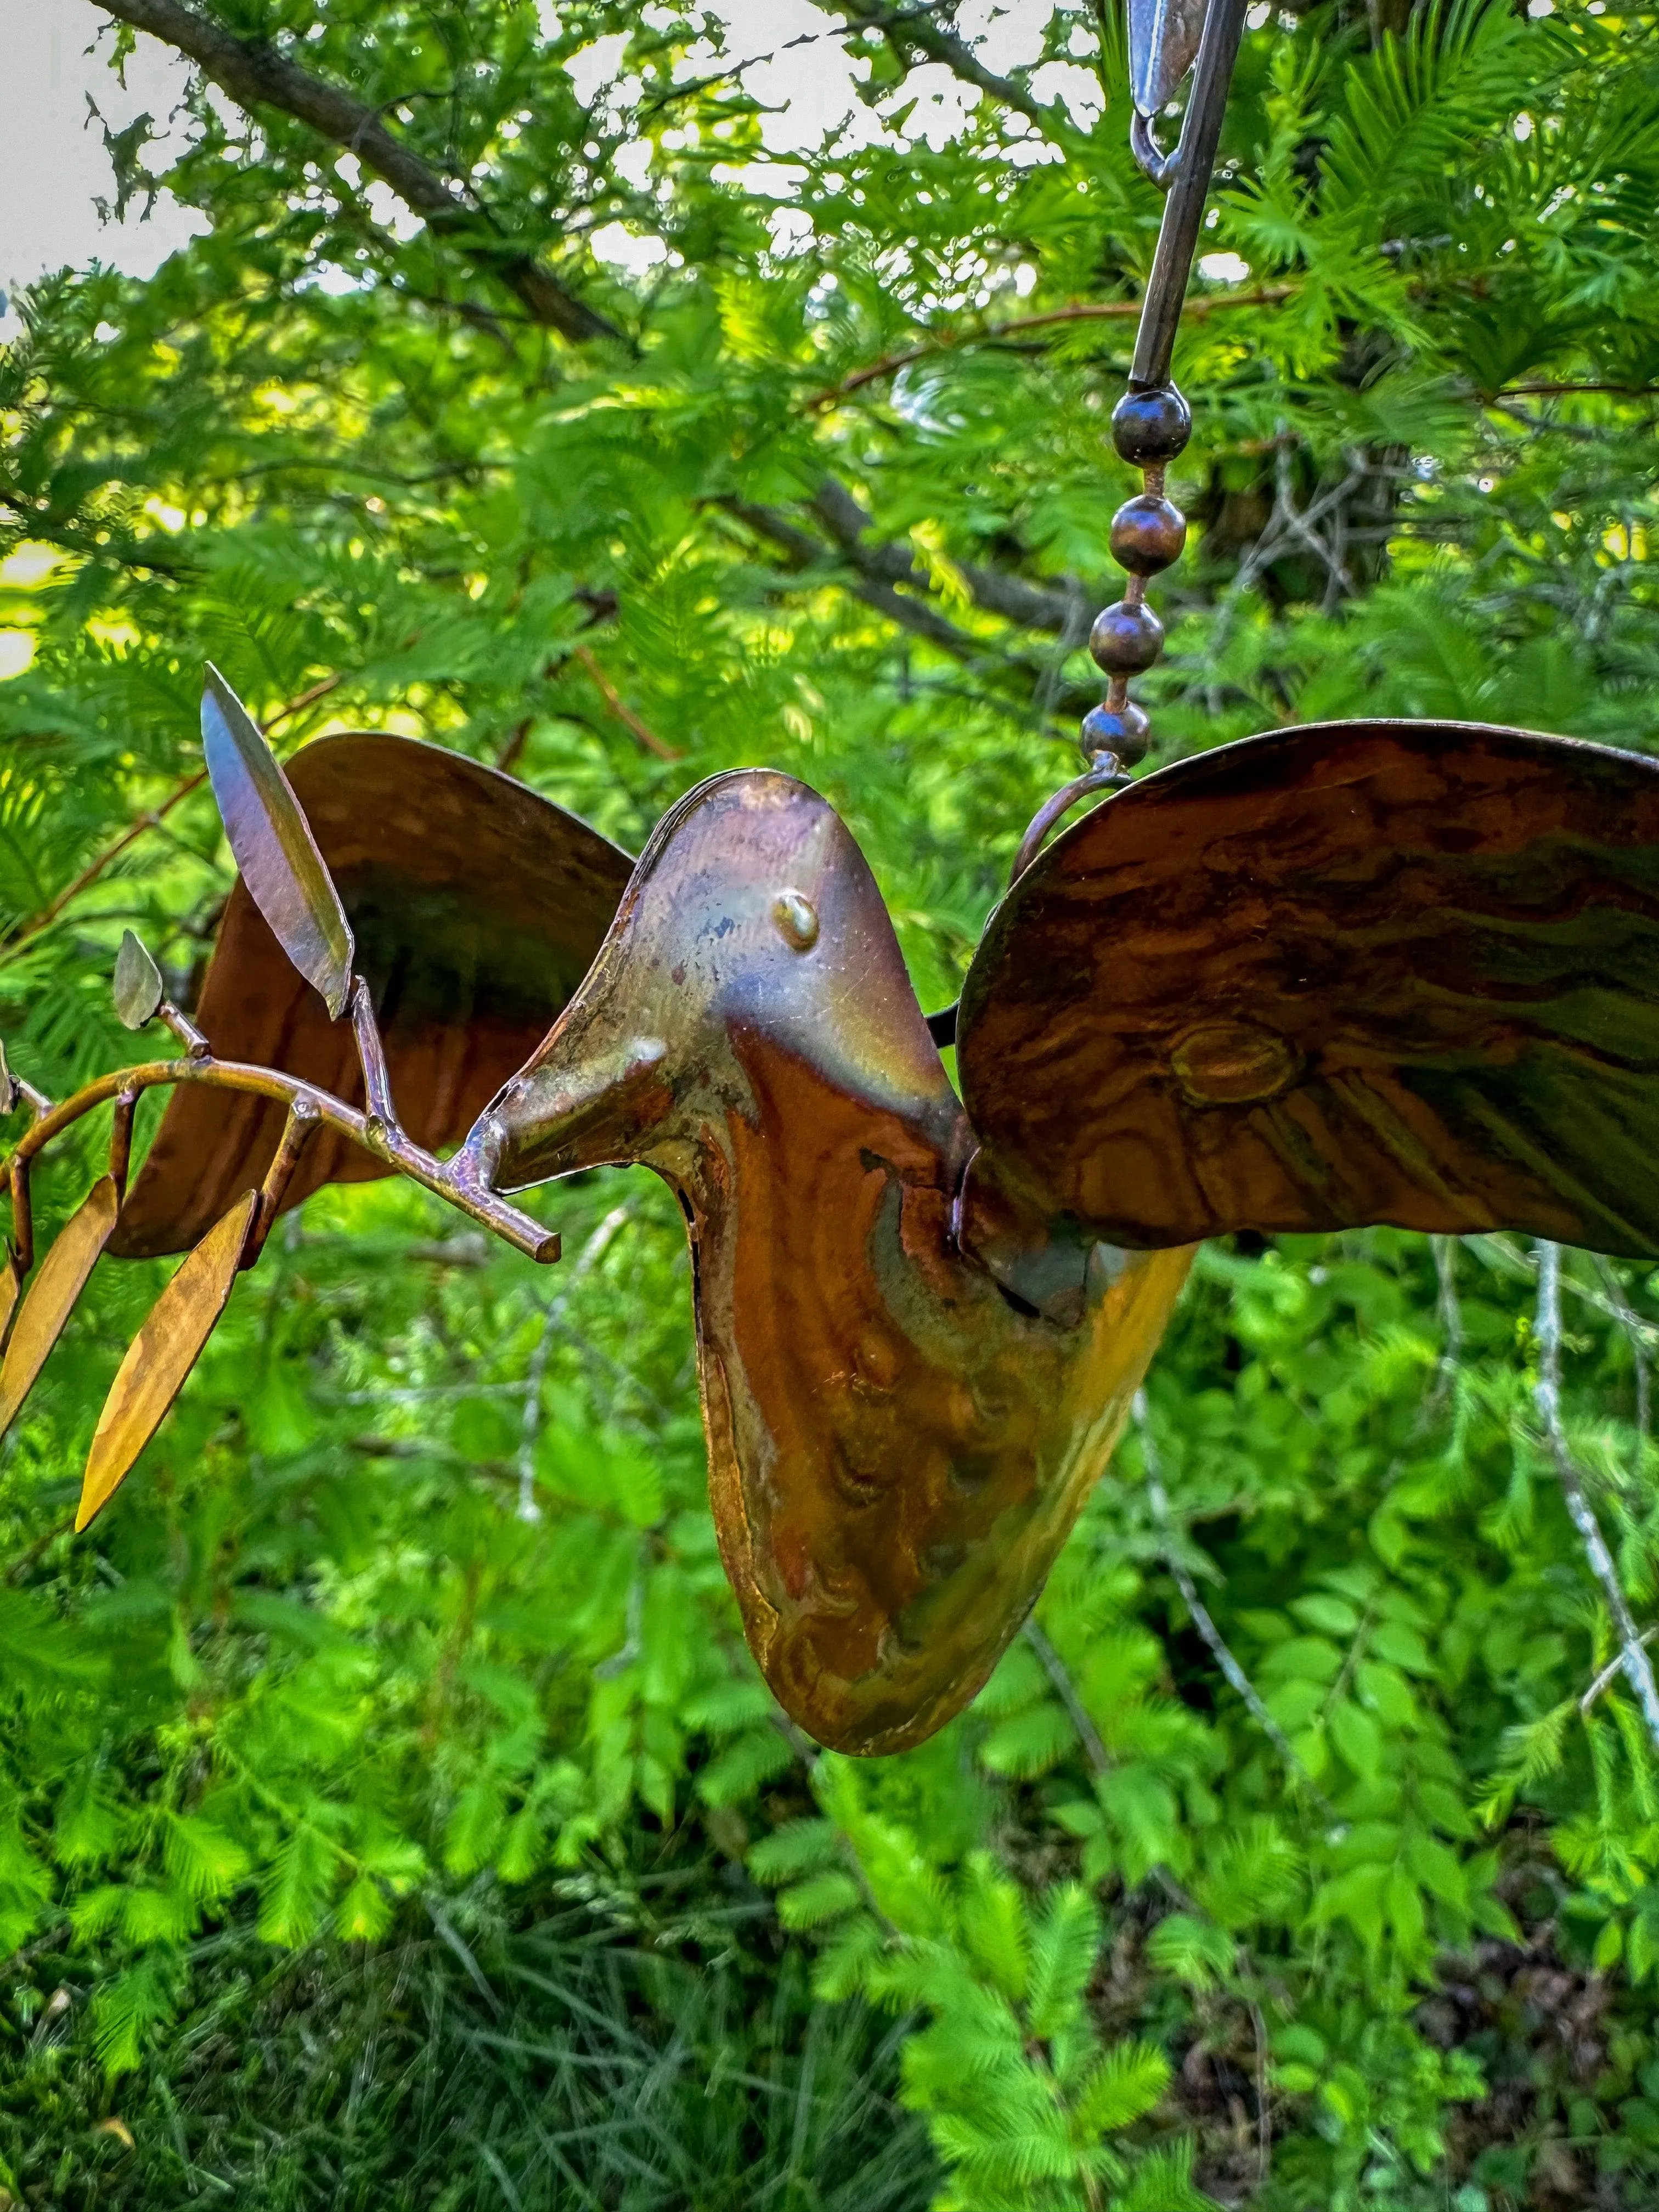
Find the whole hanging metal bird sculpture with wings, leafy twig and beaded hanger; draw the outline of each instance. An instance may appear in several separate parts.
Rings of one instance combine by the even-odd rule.
[[[405,739],[323,739],[290,781],[208,672],[241,878],[192,1020],[131,938],[115,980],[122,1018],[161,1020],[181,1057],[62,1106],[0,1062],[0,1106],[33,1113],[9,1161],[0,1427],[100,1252],[190,1254],[115,1378],[80,1526],[310,1190],[398,1172],[546,1261],[557,1237],[509,1192],[641,1164],[686,1212],[750,1646],[812,1736],[891,1752],[958,1712],[1026,1617],[1199,1239],[1398,1223],[1659,1250],[1659,765],[1352,721],[1126,774],[1146,745],[1128,675],[1161,637],[1146,577],[1183,538],[1170,303],[1239,20],[1212,0],[1159,157],[1175,181],[1115,418],[1148,484],[1113,524],[1130,588],[1093,639],[1110,690],[960,1009],[922,1015],[863,854],[790,776],[714,776],[635,865]],[[1139,0],[1135,22],[1152,35]],[[1190,51],[1192,9],[1157,24]],[[31,1166],[102,1104],[108,1172],[20,1298]]]

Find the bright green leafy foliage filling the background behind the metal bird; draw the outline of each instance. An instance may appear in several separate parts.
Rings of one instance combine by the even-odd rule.
[[[230,880],[188,785],[204,659],[281,752],[407,730],[635,847],[712,770],[799,772],[947,1002],[1115,595],[1133,321],[1044,316],[1128,307],[1150,259],[1121,24],[1057,7],[1042,66],[929,137],[949,11],[825,11],[867,128],[785,157],[712,15],[217,13],[465,212],[197,88],[166,184],[206,234],[22,301],[13,1064],[119,1064],[128,927],[192,998]],[[148,190],[144,135],[113,150]],[[1248,276],[1210,263],[1177,354],[1155,757],[1352,712],[1652,745],[1650,18],[1274,18],[1223,161],[1203,254]],[[617,336],[538,321],[524,257]],[[42,1234],[93,1172],[40,1179]],[[1655,1750],[1537,1436],[1520,1243],[1206,1248],[1029,1632],[940,1739],[856,1765],[741,1644],[672,1201],[535,1203],[553,1274],[403,1186],[316,1197],[84,1540],[161,1270],[97,1272],[0,1444],[0,2190],[1652,2201]],[[1659,1279],[1568,1256],[1568,1442],[1644,1624],[1657,1329]],[[626,1966],[591,1944],[617,1922]]]

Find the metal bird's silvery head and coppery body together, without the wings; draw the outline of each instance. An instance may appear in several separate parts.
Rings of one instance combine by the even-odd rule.
[[[1188,1265],[1099,1254],[1077,1323],[1040,1318],[953,1234],[971,1150],[869,867],[763,770],[666,816],[469,1139],[502,1188],[641,1161],[679,1192],[721,1553],[765,1679],[838,1750],[980,1688]]]

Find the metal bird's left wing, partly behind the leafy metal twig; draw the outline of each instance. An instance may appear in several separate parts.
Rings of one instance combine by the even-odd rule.
[[[633,860],[511,776],[407,737],[319,739],[288,779],[352,920],[398,1115],[429,1150],[453,1144],[586,975]],[[195,1020],[221,1060],[361,1102],[349,1022],[330,1020],[241,878]],[[111,1250],[142,1259],[197,1243],[263,1177],[281,1128],[268,1099],[175,1091]],[[285,1203],[383,1172],[321,1130]]]

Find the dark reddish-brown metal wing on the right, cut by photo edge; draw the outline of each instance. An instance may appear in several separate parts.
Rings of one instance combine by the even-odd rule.
[[[1119,1243],[1659,1252],[1659,763],[1340,721],[1166,768],[1009,891],[958,1068],[1000,1175]]]

